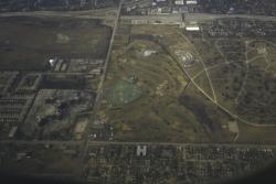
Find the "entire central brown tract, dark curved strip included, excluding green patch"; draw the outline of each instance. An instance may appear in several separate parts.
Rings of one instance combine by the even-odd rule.
[[[198,66],[201,66],[201,69],[198,68],[199,72],[203,66],[199,61],[181,61],[183,57],[197,55],[197,52],[190,47],[189,41],[178,39],[180,31],[177,26],[169,25],[134,25],[128,32],[129,43],[115,43],[104,85],[105,99],[97,115],[97,119],[114,127],[115,140],[234,140],[237,131],[233,132],[229,126],[233,119],[189,84],[183,69],[189,71],[192,76],[197,74]],[[177,50],[185,52],[173,52]],[[189,64],[189,67],[185,68],[185,64]],[[110,86],[120,80],[131,83],[142,94],[136,100],[110,106]],[[200,80],[201,84],[198,80],[195,83],[212,96],[210,86],[204,83],[208,78],[203,77]]]

